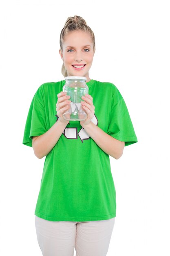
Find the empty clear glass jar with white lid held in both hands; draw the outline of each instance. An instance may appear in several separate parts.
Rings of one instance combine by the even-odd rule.
[[[66,83],[63,86],[63,92],[67,92],[70,96],[71,103],[69,108],[63,113],[63,117],[70,121],[83,121],[86,119],[87,114],[82,109],[81,101],[82,96],[88,94],[88,86],[86,85],[85,76],[66,76]]]

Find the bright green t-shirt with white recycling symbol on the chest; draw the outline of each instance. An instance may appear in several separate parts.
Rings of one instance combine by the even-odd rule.
[[[57,94],[65,80],[42,84],[35,93],[26,119],[23,144],[48,131],[57,121]],[[113,83],[86,82],[93,97],[91,121],[108,135],[137,142],[126,103]],[[106,154],[82,128],[69,121],[46,155],[35,215],[51,221],[108,220],[116,216],[116,191]]]

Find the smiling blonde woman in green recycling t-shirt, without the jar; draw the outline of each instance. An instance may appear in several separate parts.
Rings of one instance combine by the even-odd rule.
[[[62,92],[65,79],[42,84],[31,102],[23,144],[46,156],[35,209],[38,243],[43,256],[73,256],[74,248],[76,256],[106,256],[116,216],[109,155],[119,159],[137,137],[116,86],[89,77],[95,36],[82,17],[66,20],[59,52],[64,78],[87,79],[87,118],[63,118],[71,103]]]

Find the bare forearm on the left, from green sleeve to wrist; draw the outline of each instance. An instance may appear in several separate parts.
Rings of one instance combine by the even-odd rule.
[[[41,159],[45,155],[49,154],[59,140],[68,123],[69,121],[63,122],[59,118],[47,132],[40,136],[33,137],[32,146],[36,157]]]

